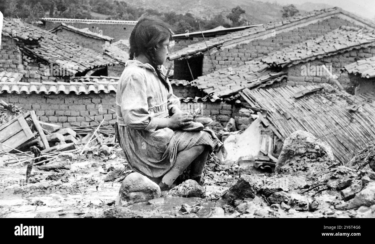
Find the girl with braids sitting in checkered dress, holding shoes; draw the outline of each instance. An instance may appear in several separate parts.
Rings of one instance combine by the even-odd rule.
[[[199,183],[210,153],[223,145],[212,130],[203,129],[192,114],[179,109],[180,100],[162,65],[172,34],[170,26],[156,17],[139,18],[130,34],[130,58],[116,96],[115,129],[126,159],[133,171],[161,190],[170,189],[189,165],[190,179]]]

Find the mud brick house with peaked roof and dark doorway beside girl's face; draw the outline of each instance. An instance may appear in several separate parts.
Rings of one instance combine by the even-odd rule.
[[[243,65],[254,58],[321,36],[342,25],[375,27],[369,20],[334,7],[193,43],[169,55],[169,60],[174,61],[174,79],[191,81],[214,70]],[[190,72],[189,66],[194,63],[201,65]]]

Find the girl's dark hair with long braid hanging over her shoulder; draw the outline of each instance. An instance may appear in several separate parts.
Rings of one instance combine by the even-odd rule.
[[[157,77],[169,91],[169,85],[156,65],[156,45],[165,40],[172,41],[172,30],[169,24],[159,18],[144,13],[139,19],[129,37],[129,60],[134,60],[143,53],[155,69]]]

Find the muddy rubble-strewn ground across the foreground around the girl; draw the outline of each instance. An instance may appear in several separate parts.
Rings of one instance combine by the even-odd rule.
[[[70,170],[34,167],[27,185],[26,165],[2,166],[0,217],[375,217],[375,145],[343,166],[314,140],[302,133],[284,142],[276,176],[213,158],[204,171],[205,198],[162,192],[127,207],[115,205],[120,180],[130,172],[118,148],[113,159],[97,152],[74,156]]]

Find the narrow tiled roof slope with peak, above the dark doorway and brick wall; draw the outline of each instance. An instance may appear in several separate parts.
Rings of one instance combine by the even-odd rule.
[[[210,40],[206,40],[206,42],[202,41],[202,42],[194,43],[194,44],[191,44],[191,45],[187,46],[186,48],[180,49],[180,50],[172,53],[171,55],[169,55],[168,58],[169,58],[169,60],[174,60],[174,59],[177,59],[177,58],[181,58],[181,57],[185,57],[185,56],[188,56],[188,55],[197,54],[199,52],[207,51],[207,47],[208,47],[208,49],[211,49],[211,48],[214,48],[216,46],[221,46],[224,43],[228,43],[228,42],[236,43],[237,40],[238,41],[243,41],[244,39],[251,40],[253,37],[255,37],[254,36],[255,34],[257,34],[256,36],[258,36],[259,35],[258,33],[270,31],[270,30],[273,30],[275,28],[282,27],[284,25],[288,25],[288,24],[291,24],[291,23],[298,24],[299,22],[304,22],[306,20],[320,19],[320,18],[324,18],[326,16],[336,15],[338,13],[345,14],[345,15],[351,17],[351,18],[354,18],[354,19],[356,19],[360,22],[363,22],[365,25],[375,27],[374,23],[371,23],[371,21],[361,19],[361,18],[359,18],[359,17],[357,17],[357,16],[355,16],[351,13],[348,13],[348,12],[340,9],[339,7],[334,7],[334,8],[330,8],[330,9],[314,10],[312,12],[307,12],[307,13],[302,14],[302,15],[296,15],[296,16],[293,16],[293,17],[290,17],[290,18],[282,19],[280,21],[269,22],[267,24],[263,24],[263,25],[258,26],[258,27],[248,28],[246,30],[236,31],[236,32],[233,32],[233,33],[230,33],[230,34],[215,37],[215,38],[212,38]],[[207,45],[206,45],[206,43],[207,43]]]

